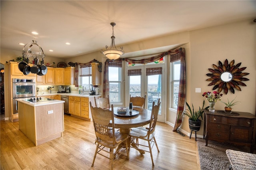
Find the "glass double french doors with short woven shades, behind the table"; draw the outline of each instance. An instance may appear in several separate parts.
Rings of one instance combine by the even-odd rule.
[[[162,74],[147,75],[148,71],[161,69]],[[130,70],[130,71],[129,71]],[[137,70],[140,75],[128,75],[126,74],[126,87],[127,96],[130,94],[134,96],[144,97],[146,95],[145,109],[152,109],[152,103],[155,102],[155,105],[160,99],[161,106],[158,114],[158,121],[165,122],[166,112],[165,112],[165,65],[164,64],[151,64],[151,65],[139,65],[133,67],[127,67],[127,72]],[[127,73],[126,72],[126,73]],[[127,101],[128,105],[129,100]]]

